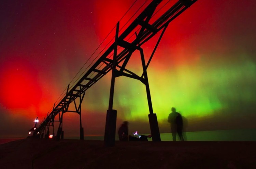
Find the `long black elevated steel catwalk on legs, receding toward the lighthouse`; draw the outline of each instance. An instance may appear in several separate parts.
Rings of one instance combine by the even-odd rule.
[[[145,85],[148,100],[148,108],[150,113],[148,114],[148,118],[150,123],[152,140],[160,141],[161,139],[157,117],[156,114],[153,113],[153,107],[151,102],[150,88],[147,77],[147,68],[169,23],[177,16],[179,16],[181,13],[183,13],[188,7],[190,7],[196,1],[197,0],[179,0],[172,7],[170,7],[163,15],[156,19],[156,21],[152,23],[151,18],[154,12],[156,11],[157,6],[162,2],[162,0],[153,0],[120,35],[118,35],[118,22],[116,25],[115,42],[100,56],[100,58],[94,63],[94,65],[90,67],[90,69],[71,89],[69,89],[68,86],[66,96],[62,98],[62,100],[59,103],[57,103],[56,106],[54,105],[53,111],[47,114],[47,117],[41,123],[37,132],[43,135],[42,133],[44,133],[47,129],[45,138],[48,138],[49,126],[52,125],[54,127],[55,117],[58,115],[58,120],[56,121],[59,122],[59,128],[57,131],[56,139],[59,140],[60,136],[63,138],[63,114],[66,112],[75,112],[80,115],[80,139],[84,139],[84,132],[81,121],[81,104],[85,96],[85,92],[97,81],[99,81],[105,74],[112,70],[109,109],[107,111],[105,124],[105,146],[114,146],[115,142],[117,111],[113,110],[113,97],[115,78],[120,76],[137,79]],[[138,28],[139,33],[136,33]],[[148,60],[147,63],[145,63],[144,53],[141,46],[160,31],[161,34],[150,56],[150,59]],[[132,41],[128,41],[128,35],[134,32],[136,33],[136,38]],[[117,51],[118,48],[122,49],[119,53]],[[134,51],[140,52],[141,63],[143,68],[142,75],[137,75],[136,73],[126,68],[126,65]],[[112,55],[113,58],[111,59]],[[102,67],[102,64],[104,64],[105,66]],[[79,103],[77,104],[77,102]],[[73,103],[75,106],[75,110],[73,111],[69,109],[69,105],[71,103]]]

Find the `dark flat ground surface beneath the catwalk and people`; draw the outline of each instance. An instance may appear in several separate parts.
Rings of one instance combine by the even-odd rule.
[[[22,139],[0,145],[1,169],[256,169],[255,141]]]

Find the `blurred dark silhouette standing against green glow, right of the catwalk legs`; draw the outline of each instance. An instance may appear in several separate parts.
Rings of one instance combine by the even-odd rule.
[[[178,133],[181,141],[184,141],[182,135],[183,120],[180,113],[176,112],[176,109],[172,107],[172,113],[168,116],[168,122],[171,123],[172,140],[176,141],[176,134]]]

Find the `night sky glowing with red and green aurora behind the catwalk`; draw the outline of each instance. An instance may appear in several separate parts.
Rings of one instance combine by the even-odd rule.
[[[120,27],[144,1],[133,5]],[[25,137],[37,116],[41,122],[51,112],[53,104],[133,2],[1,2],[0,137]],[[167,118],[171,107],[184,116],[187,131],[256,128],[255,9],[254,0],[198,0],[169,24],[148,67],[160,133],[170,132]],[[159,35],[142,46],[147,59]],[[140,74],[138,58],[135,52],[127,66]],[[85,94],[85,136],[104,134],[110,78],[111,73],[105,75]],[[130,133],[150,133],[146,90],[140,81],[116,78],[113,108],[117,110],[117,127],[127,120]],[[79,127],[78,114],[64,114],[65,136],[79,136]]]

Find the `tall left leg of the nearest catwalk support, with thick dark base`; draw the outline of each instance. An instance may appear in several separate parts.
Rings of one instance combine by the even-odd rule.
[[[118,32],[119,32],[119,22],[117,22],[116,24],[115,47],[114,47],[114,55],[113,55],[113,63],[112,63],[113,67],[112,67],[112,77],[111,77],[110,96],[109,96],[109,109],[106,114],[106,124],[105,124],[105,134],[104,134],[105,147],[111,147],[115,145],[117,111],[113,110],[113,100],[114,100],[114,87],[115,87]]]

